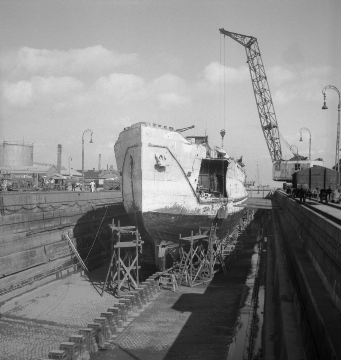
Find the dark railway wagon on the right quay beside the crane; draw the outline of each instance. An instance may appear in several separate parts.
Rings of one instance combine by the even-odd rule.
[[[293,194],[305,202],[306,197],[320,197],[320,201],[340,201],[340,174],[324,166],[297,171],[292,176]]]

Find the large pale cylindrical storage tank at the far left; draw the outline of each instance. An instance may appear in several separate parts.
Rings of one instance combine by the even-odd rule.
[[[32,166],[33,143],[0,142],[0,166]]]

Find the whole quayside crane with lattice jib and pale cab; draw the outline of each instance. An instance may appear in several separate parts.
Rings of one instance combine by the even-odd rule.
[[[280,138],[282,138],[285,144],[287,144],[287,142],[278,130],[274,105],[263,61],[260,56],[257,39],[254,36],[247,36],[226,31],[224,28],[219,29],[219,31],[221,34],[231,37],[245,48],[259,119],[266,145],[268,146],[270,157],[273,162],[273,180],[291,182],[292,174],[295,171],[312,167],[313,165],[323,166],[322,159],[313,161],[309,159],[309,161],[307,161],[294,152],[293,154],[295,155],[295,160],[286,161],[283,159]]]

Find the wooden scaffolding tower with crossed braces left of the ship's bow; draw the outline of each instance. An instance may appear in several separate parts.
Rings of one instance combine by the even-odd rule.
[[[139,286],[139,251],[142,252],[142,244],[138,229],[135,226],[115,226],[112,223],[112,257],[109,265],[104,289],[108,286],[117,297],[124,296],[122,288],[130,290],[133,286]]]

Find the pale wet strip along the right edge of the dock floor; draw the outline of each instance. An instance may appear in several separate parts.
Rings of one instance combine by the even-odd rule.
[[[253,294],[253,285],[255,284],[255,274],[257,270],[257,263],[259,258],[258,243],[253,247],[253,255],[251,258],[250,272],[247,275],[245,286],[248,288],[247,297],[244,302],[244,306],[239,310],[239,316],[237,320],[237,326],[235,330],[235,336],[229,347],[227,360],[243,360],[244,350],[246,345],[246,337],[248,330],[248,323],[250,319],[251,300]]]

